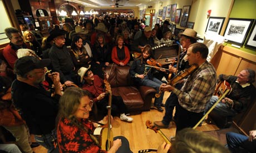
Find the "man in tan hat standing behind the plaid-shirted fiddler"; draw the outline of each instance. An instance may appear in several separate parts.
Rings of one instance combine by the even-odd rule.
[[[183,52],[180,53],[179,58],[179,64],[178,65],[169,65],[169,71],[170,73],[173,73],[173,76],[175,73],[179,73],[181,70],[190,68],[189,61],[187,59],[187,49],[189,46],[193,43],[196,43],[196,34],[197,32],[193,29],[186,28],[183,33],[180,34],[180,44],[183,48]],[[176,61],[178,60],[178,57],[176,58]],[[178,71],[177,71],[178,69]],[[181,89],[183,86],[183,83],[178,83],[175,85],[176,89]],[[178,105],[178,97],[176,94],[171,93],[169,98],[165,101],[165,115],[163,117],[163,120],[161,121],[155,121],[154,124],[159,128],[168,128],[170,121],[173,119],[173,110],[176,105]]]

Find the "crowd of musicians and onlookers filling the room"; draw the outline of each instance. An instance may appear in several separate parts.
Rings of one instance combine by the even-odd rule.
[[[1,60],[1,67],[4,67],[1,72],[1,82],[4,83],[1,85],[1,111],[9,111],[16,123],[3,124],[1,120],[0,125],[12,132],[23,152],[33,152],[29,146],[30,134],[35,135],[38,144],[46,147],[48,152],[106,152],[93,136],[92,131],[97,125],[89,118],[100,112],[105,116],[100,123],[106,124],[109,98],[105,91],[104,80],[108,77],[105,68],[113,64],[119,67],[129,65],[131,79],[137,85],[150,86],[160,93],[154,106],[160,112],[164,111],[164,106],[165,114],[162,121],[155,121],[155,126],[168,128],[170,121],[174,120],[176,141],[186,144],[187,140],[183,139],[189,136],[184,129],[196,125],[218,100],[213,96],[218,80],[213,65],[206,60],[208,48],[203,43],[196,43],[197,33],[190,28],[179,34],[177,41],[182,52],[176,59],[178,63],[169,65],[169,73],[173,76],[193,68],[189,76],[175,85],[168,84],[155,77],[156,71],[166,70],[145,67],[147,60],[154,59],[152,47],[174,39],[168,25],[169,22],[164,21],[161,27],[155,24],[152,29],[141,27],[136,18],[127,20],[123,17],[95,18],[93,21],[81,19],[77,24],[71,20],[62,26],[56,25],[46,38],[40,38],[42,35],[35,33],[33,25],[29,25],[23,35],[17,28],[6,28],[10,43],[4,48]],[[140,56],[133,57],[133,51]],[[214,111],[234,116],[247,109],[254,98],[254,78],[255,72],[251,69],[242,70],[238,77],[220,75],[219,80],[229,81],[234,90]],[[63,86],[80,88],[70,87],[63,93]],[[164,91],[171,91],[165,104]],[[111,115],[132,123],[133,118],[127,115],[129,111],[121,96],[112,95],[111,98]],[[174,107],[176,114],[173,119]],[[195,133],[192,137],[199,135]],[[255,137],[254,132],[253,135]],[[255,142],[254,137],[249,140]],[[228,152],[215,140],[204,139],[216,143],[217,149]],[[173,147],[175,152],[179,152],[179,147],[184,144],[177,142]],[[193,145],[186,147],[192,148]],[[169,148],[170,145],[164,143],[157,152],[167,152]],[[131,152],[129,141],[116,136],[107,152]]]

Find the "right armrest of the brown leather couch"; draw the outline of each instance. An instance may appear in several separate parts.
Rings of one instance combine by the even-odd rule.
[[[138,87],[141,98],[144,100],[143,111],[149,111],[152,103],[152,98],[155,97],[156,90],[149,86],[141,85]]]

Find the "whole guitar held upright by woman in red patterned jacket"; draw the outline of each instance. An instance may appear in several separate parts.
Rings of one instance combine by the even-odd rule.
[[[109,105],[107,106],[107,128],[97,127],[93,131],[93,135],[100,135],[100,146],[102,150],[109,151],[110,147],[113,145],[113,132],[110,129],[111,125],[111,103],[112,103],[112,91],[110,84],[104,80],[105,89],[107,94],[109,94]]]

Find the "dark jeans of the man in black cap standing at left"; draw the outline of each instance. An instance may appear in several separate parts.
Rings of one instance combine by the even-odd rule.
[[[57,138],[56,132],[54,132],[55,138]],[[38,142],[38,144],[46,147],[48,153],[57,153],[58,152],[58,146],[55,149],[55,146],[53,145],[54,137],[52,134],[45,134],[41,136],[35,135],[35,140]],[[57,140],[56,140],[57,142]]]

